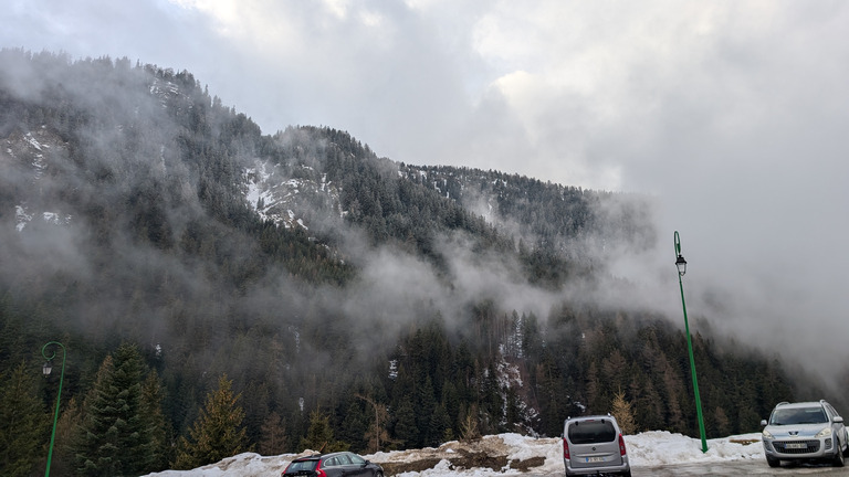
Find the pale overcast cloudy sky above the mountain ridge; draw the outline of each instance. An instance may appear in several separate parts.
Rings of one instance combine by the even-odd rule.
[[[7,0],[0,24],[188,70],[266,134],[650,194],[663,242],[619,273],[680,305],[678,230],[691,315],[849,358],[848,2]]]

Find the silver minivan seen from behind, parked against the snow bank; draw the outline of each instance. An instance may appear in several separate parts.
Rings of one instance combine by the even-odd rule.
[[[563,423],[567,476],[619,474],[630,477],[625,439],[611,415],[569,417]]]

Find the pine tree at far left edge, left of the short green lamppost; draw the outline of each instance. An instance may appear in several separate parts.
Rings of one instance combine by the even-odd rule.
[[[25,362],[0,375],[0,475],[30,475],[42,457],[48,414],[35,392],[35,375]]]

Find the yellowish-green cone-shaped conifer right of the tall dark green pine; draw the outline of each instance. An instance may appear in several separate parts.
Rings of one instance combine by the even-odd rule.
[[[190,439],[180,438],[175,468],[191,469],[248,451],[244,410],[238,404],[241,394],[233,394],[232,385],[222,374],[218,390],[207,394],[206,405],[189,430]]]

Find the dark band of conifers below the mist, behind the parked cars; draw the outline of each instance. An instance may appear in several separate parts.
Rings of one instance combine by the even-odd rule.
[[[94,350],[66,337],[53,469],[140,475],[241,452],[374,453],[503,432],[557,436],[568,416],[608,412],[629,432],[696,435],[684,337],[664,319],[567,305],[546,320],[486,304],[473,314],[460,339],[434,316],[378,352],[370,369],[291,373],[276,390],[261,374],[227,371],[178,383],[186,372],[172,369],[178,363],[127,342],[87,371]],[[709,437],[754,432],[776,402],[806,395],[776,362],[719,352],[701,335],[694,348]],[[3,475],[29,475],[44,463],[57,379],[40,378],[39,367],[30,359],[3,368]],[[338,372],[355,374],[334,378]]]

